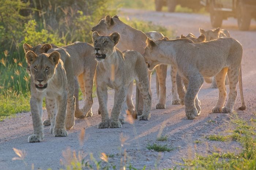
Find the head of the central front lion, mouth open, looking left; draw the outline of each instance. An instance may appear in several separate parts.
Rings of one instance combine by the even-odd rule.
[[[92,38],[94,42],[94,54],[96,55],[96,60],[101,62],[113,54],[114,47],[120,39],[120,34],[118,32],[113,32],[109,36],[100,36],[97,31],[94,31]]]

